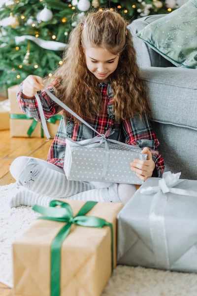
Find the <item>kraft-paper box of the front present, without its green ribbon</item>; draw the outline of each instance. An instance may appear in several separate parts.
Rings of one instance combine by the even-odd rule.
[[[74,216],[85,201],[64,199]],[[97,203],[86,216],[113,224],[116,266],[116,217],[121,203]],[[35,220],[13,243],[15,296],[50,296],[51,244],[65,222]],[[111,275],[111,230],[72,224],[61,247],[60,296],[100,296]],[[54,281],[54,279],[53,279]],[[55,295],[55,296],[59,296]]]

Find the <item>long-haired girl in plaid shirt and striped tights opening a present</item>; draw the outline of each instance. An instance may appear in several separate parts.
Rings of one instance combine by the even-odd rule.
[[[47,89],[107,138],[143,148],[147,160],[135,159],[131,170],[145,181],[148,177],[162,177],[164,160],[148,120],[150,109],[127,25],[120,14],[108,9],[89,13],[83,24],[71,32],[63,64],[53,74],[58,78],[50,85],[47,82]],[[41,120],[35,92],[46,119],[61,111],[42,91],[43,87],[41,77],[30,75],[21,83],[17,95],[20,109],[37,121]],[[24,189],[12,199],[11,206],[48,205],[51,199],[63,197],[126,203],[135,185],[66,179],[66,138],[80,141],[95,136],[64,110],[47,161],[21,156],[12,162],[10,172]]]

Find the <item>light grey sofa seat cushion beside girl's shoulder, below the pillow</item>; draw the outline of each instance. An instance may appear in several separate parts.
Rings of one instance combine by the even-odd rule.
[[[154,121],[197,130],[197,75],[194,69],[142,68]]]

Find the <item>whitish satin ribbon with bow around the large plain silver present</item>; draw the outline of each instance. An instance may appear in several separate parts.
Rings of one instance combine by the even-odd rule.
[[[167,246],[166,229],[164,223],[164,212],[167,204],[167,192],[178,195],[196,196],[197,192],[192,190],[185,190],[181,188],[172,188],[175,185],[185,181],[179,180],[181,173],[172,174],[165,172],[163,178],[159,180],[159,186],[148,186],[141,188],[142,194],[153,194],[152,203],[149,211],[149,226],[153,243],[153,250],[156,259],[156,267],[169,269],[169,254]]]

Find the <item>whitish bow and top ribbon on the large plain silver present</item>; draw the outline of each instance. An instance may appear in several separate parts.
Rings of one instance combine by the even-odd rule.
[[[189,195],[189,196],[197,196],[197,192],[192,190],[185,190],[180,188],[172,188],[175,185],[185,181],[185,180],[179,180],[181,173],[172,174],[170,171],[165,172],[163,174],[162,179],[159,180],[158,184],[159,186],[148,186],[145,188],[141,188],[140,192],[142,194],[152,194],[157,193],[159,191],[162,191],[163,193],[171,192],[174,194],[179,195]]]

